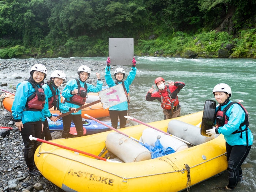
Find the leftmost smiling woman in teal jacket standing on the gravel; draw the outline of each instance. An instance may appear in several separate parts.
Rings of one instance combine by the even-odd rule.
[[[30,69],[30,78],[17,85],[17,91],[12,104],[12,116],[15,125],[18,127],[22,140],[24,142],[24,158],[29,173],[34,176],[41,176],[34,163],[34,154],[39,142],[30,140],[32,135],[41,138],[44,120],[42,109],[45,103],[45,94],[41,84],[47,75],[47,69],[44,65],[35,64]]]

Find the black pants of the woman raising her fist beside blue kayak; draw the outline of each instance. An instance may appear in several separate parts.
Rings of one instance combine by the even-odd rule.
[[[81,114],[78,115],[67,115],[62,117],[63,122],[63,132],[62,132],[62,138],[68,138],[68,134],[70,131],[71,122],[74,122],[76,127],[77,136],[83,136],[83,121]]]

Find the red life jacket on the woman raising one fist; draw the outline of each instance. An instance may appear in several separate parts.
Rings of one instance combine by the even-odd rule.
[[[76,83],[78,84],[78,93],[70,97],[69,98],[70,101],[66,101],[66,102],[83,106],[87,98],[87,84],[86,82],[84,82],[84,87],[81,87],[79,80],[78,79],[75,79],[75,80],[76,80]]]

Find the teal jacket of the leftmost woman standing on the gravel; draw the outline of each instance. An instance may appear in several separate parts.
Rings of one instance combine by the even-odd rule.
[[[23,81],[17,85],[16,90],[11,108],[14,119],[21,120],[23,124],[39,120],[44,121],[45,118],[42,111],[23,111],[27,103],[27,98],[35,93],[33,86],[28,81]]]

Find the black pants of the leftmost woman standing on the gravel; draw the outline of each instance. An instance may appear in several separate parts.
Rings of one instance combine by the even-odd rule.
[[[29,122],[23,124],[23,129],[21,128],[21,136],[22,140],[24,142],[24,158],[27,164],[27,167],[29,167],[29,170],[32,171],[36,168],[35,162],[34,162],[34,154],[37,147],[40,145],[39,142],[35,140],[30,140],[29,136],[32,135],[35,138],[41,138],[42,133],[42,122],[35,121],[35,122]]]

